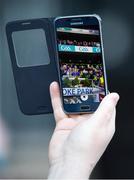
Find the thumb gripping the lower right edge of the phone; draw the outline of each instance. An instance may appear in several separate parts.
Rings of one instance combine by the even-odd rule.
[[[117,93],[110,93],[102,100],[99,108],[94,113],[95,119],[99,119],[100,123],[109,122],[115,112],[116,104],[119,100],[119,95]]]

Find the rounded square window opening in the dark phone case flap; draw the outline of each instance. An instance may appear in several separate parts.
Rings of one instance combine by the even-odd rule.
[[[46,34],[43,29],[29,29],[12,33],[18,67],[48,65],[50,63]]]

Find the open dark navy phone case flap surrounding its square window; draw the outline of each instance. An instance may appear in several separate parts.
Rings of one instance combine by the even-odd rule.
[[[26,115],[52,113],[49,86],[52,81],[58,81],[53,18],[33,19],[31,25],[20,29],[20,23],[28,20],[9,22],[6,25],[10,58],[14,74],[18,103],[21,111]],[[48,65],[19,67],[12,39],[14,31],[43,28],[49,51],[50,63]]]

